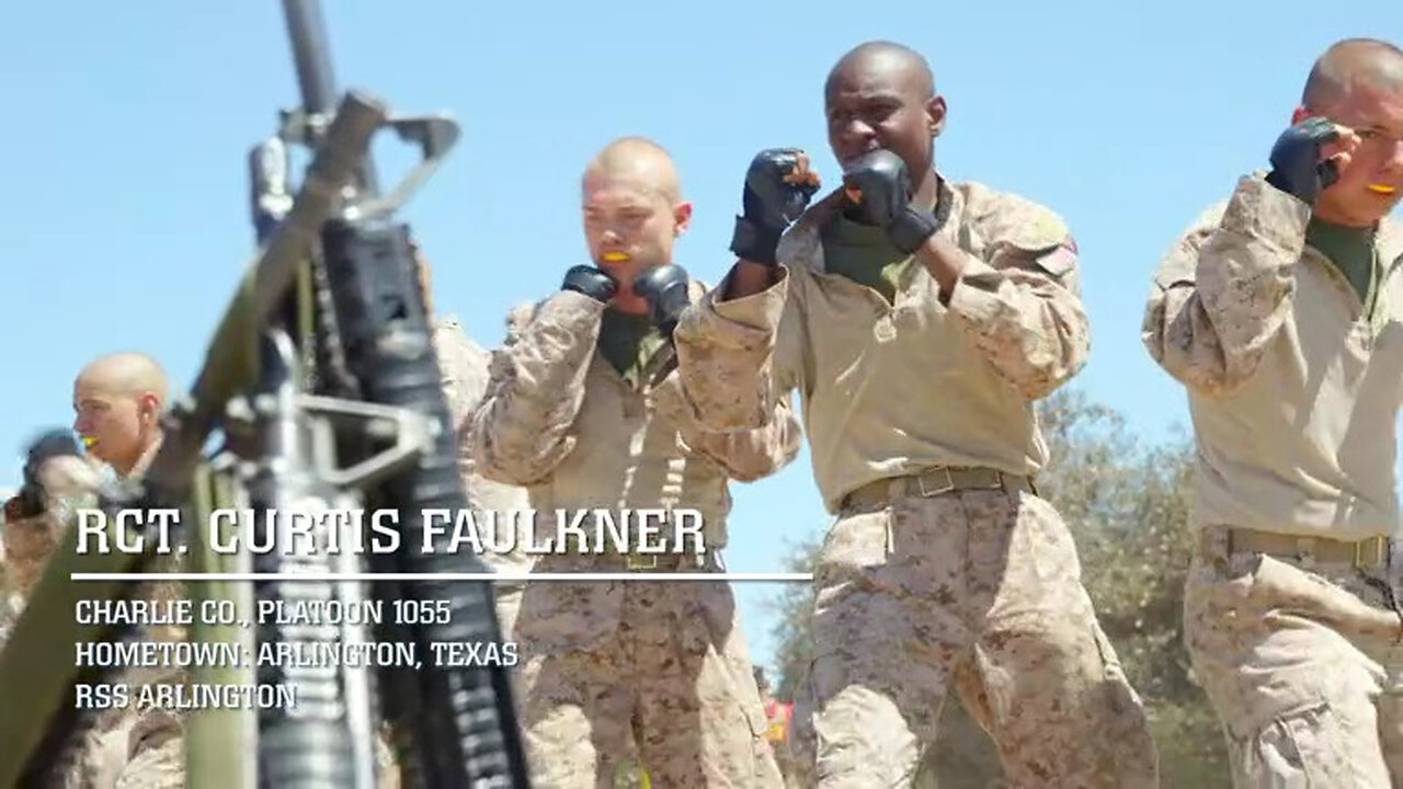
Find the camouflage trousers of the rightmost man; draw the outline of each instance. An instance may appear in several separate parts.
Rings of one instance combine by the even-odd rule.
[[[1403,622],[1371,574],[1229,555],[1204,531],[1184,640],[1233,786],[1403,786]]]

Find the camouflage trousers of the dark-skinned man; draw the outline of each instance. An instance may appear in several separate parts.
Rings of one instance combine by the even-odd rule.
[[[1072,536],[1030,491],[845,508],[819,552],[812,629],[794,705],[808,786],[912,786],[951,688],[1009,786],[1157,786],[1143,705]]]

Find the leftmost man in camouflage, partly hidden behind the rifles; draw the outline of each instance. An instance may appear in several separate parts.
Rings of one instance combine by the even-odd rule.
[[[128,389],[130,380],[140,380],[150,385],[153,380],[164,380],[154,361],[135,354],[118,354],[97,359],[74,383],[74,406],[79,409],[79,432],[86,438],[104,441],[111,434],[107,432],[114,416],[122,406],[130,406],[132,423],[140,424],[142,434],[133,438],[133,451],[139,451],[130,469],[119,477],[139,479],[150,462],[156,458],[161,437],[157,427],[160,407],[166,392],[150,392],[150,386],[140,392]],[[135,425],[133,425],[135,427]],[[115,442],[115,441],[114,441]],[[84,466],[88,472],[86,484],[66,486],[63,494],[43,497],[43,508],[36,514],[20,517],[21,500],[11,498],[6,505],[4,522],[4,599],[0,599],[0,646],[3,646],[10,628],[18,619],[28,599],[29,591],[43,574],[51,556],[63,539],[73,512],[79,507],[93,507],[95,500],[91,496],[91,484],[98,482],[100,463],[95,456],[102,456],[104,446],[93,446],[88,460],[66,458],[58,460],[73,462]],[[52,468],[52,466],[51,466]],[[45,472],[48,473],[48,472]],[[76,475],[69,475],[76,477]],[[73,482],[79,482],[74,479]],[[175,599],[184,594],[181,584],[147,584],[142,592],[146,599],[166,601]],[[184,628],[152,626],[143,630],[142,637],[152,640],[184,639]],[[178,667],[129,667],[122,671],[121,681],[137,688],[152,682],[182,681],[184,671]],[[7,703],[7,699],[0,699]],[[160,709],[139,710],[136,706],[128,709],[104,710],[98,713],[97,723],[84,736],[77,758],[72,768],[63,775],[62,786],[67,789],[112,789],[112,788],[180,788],[185,785],[185,754],[182,750],[182,722],[175,713]]]

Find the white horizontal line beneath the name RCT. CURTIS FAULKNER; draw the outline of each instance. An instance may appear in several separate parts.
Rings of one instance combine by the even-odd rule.
[[[74,581],[812,581],[812,573],[72,573]]]

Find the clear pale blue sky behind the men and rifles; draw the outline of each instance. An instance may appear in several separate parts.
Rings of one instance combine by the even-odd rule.
[[[696,204],[678,263],[714,282],[755,150],[807,147],[832,183],[832,62],[870,38],[922,51],[950,107],[940,168],[1068,219],[1093,324],[1075,386],[1157,438],[1187,424],[1183,392],[1139,343],[1159,257],[1266,164],[1319,52],[1350,35],[1403,41],[1403,13],[1397,0],[1348,14],[1303,0],[1129,6],[342,0],[324,13],[341,87],[463,125],[403,216],[434,263],[439,310],[485,345],[511,305],[585,261],[578,174],[607,140],[647,135],[673,152]],[[13,487],[25,441],[70,423],[88,358],[140,350],[192,380],[253,254],[246,153],[297,94],[274,0],[15,3],[0,25],[0,487]],[[805,452],[737,486],[730,569],[779,570],[787,543],[828,524]],[[769,663],[762,602],[776,590],[738,591]]]

